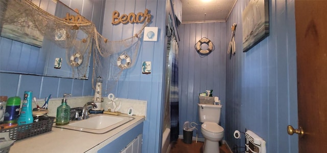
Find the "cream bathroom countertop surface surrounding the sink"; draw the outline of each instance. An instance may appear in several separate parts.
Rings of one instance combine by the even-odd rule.
[[[135,119],[105,134],[52,127],[51,132],[16,141],[10,152],[97,152],[145,120],[144,116],[132,117]]]

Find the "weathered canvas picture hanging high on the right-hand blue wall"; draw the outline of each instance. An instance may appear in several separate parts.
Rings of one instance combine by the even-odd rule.
[[[268,0],[250,0],[242,12],[243,52],[269,36]]]

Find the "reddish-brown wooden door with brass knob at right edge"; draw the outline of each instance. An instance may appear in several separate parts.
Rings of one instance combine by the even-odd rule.
[[[327,1],[295,1],[295,20],[299,152],[326,152]]]

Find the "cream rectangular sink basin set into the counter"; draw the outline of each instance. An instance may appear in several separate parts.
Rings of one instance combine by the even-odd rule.
[[[89,116],[90,118],[85,120],[71,121],[67,125],[56,125],[56,123],[54,123],[53,126],[58,128],[78,130],[81,132],[103,134],[135,119],[133,117],[106,114],[90,114]]]

